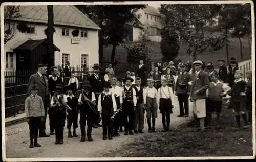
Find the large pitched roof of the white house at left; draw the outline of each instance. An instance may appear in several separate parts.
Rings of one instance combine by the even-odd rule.
[[[20,17],[15,20],[47,24],[47,5],[20,6]],[[54,25],[100,29],[91,19],[73,5],[53,5]]]

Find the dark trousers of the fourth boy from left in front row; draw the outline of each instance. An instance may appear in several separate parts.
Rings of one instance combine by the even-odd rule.
[[[93,129],[93,123],[89,118],[87,117],[88,114],[86,113],[80,113],[80,129],[81,129],[81,135],[86,135],[86,122],[87,122],[87,135],[92,135],[92,129]]]

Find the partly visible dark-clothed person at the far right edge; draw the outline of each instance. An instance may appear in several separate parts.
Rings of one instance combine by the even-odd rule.
[[[248,122],[252,123],[252,73],[251,71],[246,72],[246,111],[248,112]]]

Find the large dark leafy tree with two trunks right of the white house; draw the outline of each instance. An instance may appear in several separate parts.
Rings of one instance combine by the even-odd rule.
[[[103,58],[103,42],[113,45],[111,61],[114,62],[116,46],[127,37],[127,23],[138,22],[135,13],[146,5],[79,5],[76,6],[92,19],[100,28],[99,31],[99,62]]]

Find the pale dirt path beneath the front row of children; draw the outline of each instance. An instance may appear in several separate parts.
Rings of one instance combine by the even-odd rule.
[[[191,105],[190,117],[191,117]],[[176,105],[171,115],[171,127],[177,127],[186,122],[189,118],[178,118],[179,107]],[[159,112],[158,112],[159,113]],[[49,121],[47,119],[47,132],[49,132]],[[156,129],[161,131],[161,114],[156,119]],[[66,126],[65,126],[66,128]],[[40,148],[29,148],[29,127],[27,123],[20,123],[6,128],[6,157],[7,158],[35,158],[35,157],[96,157],[101,152],[113,150],[121,147],[136,138],[136,136],[146,136],[147,124],[144,123],[144,134],[123,135],[114,137],[113,140],[102,140],[102,127],[93,129],[93,142],[80,142],[80,128],[77,129],[77,138],[68,138],[68,130],[64,132],[64,144],[55,145],[55,135],[48,138],[38,138]]]

